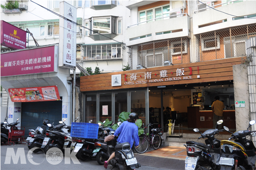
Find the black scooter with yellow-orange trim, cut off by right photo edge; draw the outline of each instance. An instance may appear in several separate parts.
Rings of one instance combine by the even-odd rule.
[[[239,130],[235,133],[229,131],[228,127],[224,126],[224,130],[232,133],[230,139],[235,141],[223,140],[221,141],[221,169],[222,170],[253,170],[256,162],[256,147],[253,141],[246,139],[247,136],[256,136],[256,131],[250,131],[249,127],[255,124],[255,120],[250,121],[247,130]]]

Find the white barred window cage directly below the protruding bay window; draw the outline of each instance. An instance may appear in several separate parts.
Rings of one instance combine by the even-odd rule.
[[[82,45],[82,60],[122,59],[122,44]]]

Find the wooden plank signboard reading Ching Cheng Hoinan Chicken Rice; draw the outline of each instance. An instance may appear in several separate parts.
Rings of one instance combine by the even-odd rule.
[[[233,80],[233,65],[237,64],[241,57],[83,76],[80,91]],[[117,74],[121,74],[121,85],[111,86],[111,76]]]

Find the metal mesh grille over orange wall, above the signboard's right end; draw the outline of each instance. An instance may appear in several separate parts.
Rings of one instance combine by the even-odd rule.
[[[245,41],[256,36],[256,24],[195,35],[197,62],[246,56]]]

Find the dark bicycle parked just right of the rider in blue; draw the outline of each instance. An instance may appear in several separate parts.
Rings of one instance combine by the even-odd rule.
[[[152,124],[148,124],[149,126],[151,126]],[[145,127],[144,123],[143,123],[143,130],[144,133],[142,134],[142,136],[140,136],[140,143],[139,143],[139,147],[135,147],[135,150],[138,153],[145,153],[145,151],[148,149],[149,146],[153,146],[153,148],[156,150],[160,147],[161,144],[161,137],[158,133],[161,132],[161,128],[158,129],[151,129],[151,131],[153,132],[152,134],[150,134],[151,138],[149,136],[146,135],[145,130],[147,129],[148,125]]]

